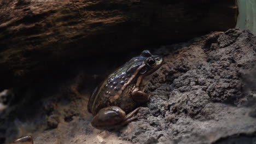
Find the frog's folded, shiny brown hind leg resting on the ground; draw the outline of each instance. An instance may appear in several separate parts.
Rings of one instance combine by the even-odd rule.
[[[140,107],[126,115],[125,111],[118,106],[108,106],[101,109],[92,118],[91,125],[97,129],[116,129],[130,123],[137,117],[132,117]]]

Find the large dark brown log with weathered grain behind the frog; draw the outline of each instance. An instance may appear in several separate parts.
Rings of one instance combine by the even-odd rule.
[[[102,53],[226,31],[236,16],[235,0],[0,0],[0,89]]]

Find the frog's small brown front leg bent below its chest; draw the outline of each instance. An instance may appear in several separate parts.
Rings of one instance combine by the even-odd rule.
[[[149,100],[150,95],[140,91],[139,88],[135,88],[132,91],[132,99],[138,103],[146,103]]]

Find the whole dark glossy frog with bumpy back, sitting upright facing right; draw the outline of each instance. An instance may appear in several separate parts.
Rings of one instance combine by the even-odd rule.
[[[88,111],[94,116],[91,125],[97,129],[115,129],[136,119],[133,115],[138,106],[149,99],[144,87],[162,63],[161,57],[144,50],[110,74],[89,99]]]

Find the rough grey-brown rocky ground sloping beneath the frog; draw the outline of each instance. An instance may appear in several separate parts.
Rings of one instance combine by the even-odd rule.
[[[90,124],[94,87],[139,54],[120,53],[119,62],[83,63],[60,70],[68,76],[53,71],[37,85],[13,89],[15,99],[0,115],[1,142],[22,135],[32,135],[36,144],[256,142],[255,35],[229,29],[152,53],[164,56],[165,64],[146,88],[152,97],[137,121],[117,131]]]

